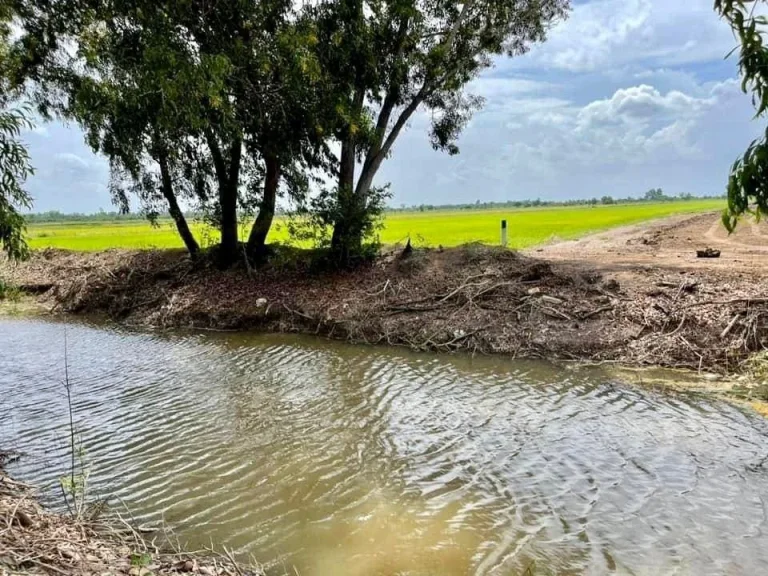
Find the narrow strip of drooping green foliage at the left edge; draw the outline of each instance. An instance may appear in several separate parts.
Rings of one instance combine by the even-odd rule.
[[[23,185],[34,170],[19,140],[22,129],[29,127],[26,110],[0,111],[0,247],[12,259],[24,259],[29,253],[24,217],[19,212],[32,207],[32,198]]]

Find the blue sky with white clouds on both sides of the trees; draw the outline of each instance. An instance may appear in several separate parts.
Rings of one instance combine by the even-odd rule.
[[[485,98],[448,156],[418,114],[378,174],[394,206],[724,192],[760,132],[736,46],[713,0],[575,0],[544,44],[503,58],[469,91]],[[34,211],[113,210],[104,158],[76,126],[24,134]]]

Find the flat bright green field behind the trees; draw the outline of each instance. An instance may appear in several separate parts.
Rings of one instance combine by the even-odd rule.
[[[381,241],[403,242],[409,235],[417,246],[456,246],[467,242],[498,243],[500,221],[507,220],[509,245],[525,248],[555,238],[578,238],[616,226],[662,218],[672,214],[719,210],[724,200],[707,199],[659,204],[613,206],[548,207],[508,210],[456,210],[443,212],[393,212],[387,214]],[[216,233],[193,225],[203,246],[216,242]],[[29,226],[32,248],[105,250],[108,248],[179,248],[181,240],[170,221],[152,227],[143,222],[45,223]],[[243,229],[243,237],[247,230]],[[278,220],[269,240],[287,241],[288,234]]]

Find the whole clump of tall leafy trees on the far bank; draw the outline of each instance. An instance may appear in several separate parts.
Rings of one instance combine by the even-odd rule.
[[[436,150],[481,99],[469,83],[524,53],[569,0],[10,0],[9,77],[107,156],[113,196],[220,230],[220,260],[262,254],[277,198],[332,228],[342,261],[381,209],[374,178],[418,110]],[[314,185],[311,185],[314,183]],[[258,212],[247,241],[241,220]]]

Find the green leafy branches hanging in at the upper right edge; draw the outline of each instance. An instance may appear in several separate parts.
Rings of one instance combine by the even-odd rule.
[[[757,0],[715,1],[715,11],[738,39],[741,88],[745,93],[752,92],[755,117],[760,118],[768,110],[768,47],[764,43],[768,18],[755,15],[757,5]],[[727,196],[723,224],[731,232],[745,213],[754,213],[757,218],[768,214],[768,130],[731,167]]]

